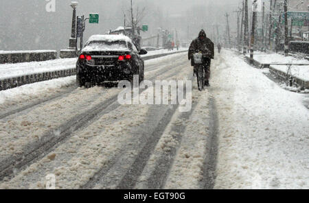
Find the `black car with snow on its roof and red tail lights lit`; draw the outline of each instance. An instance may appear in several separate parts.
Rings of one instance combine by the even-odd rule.
[[[104,82],[133,82],[133,75],[144,80],[144,60],[132,40],[124,35],[95,35],[85,44],[76,63],[78,86],[92,86]]]

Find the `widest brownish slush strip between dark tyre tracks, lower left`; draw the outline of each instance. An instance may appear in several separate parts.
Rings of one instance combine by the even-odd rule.
[[[183,78],[183,74],[189,72],[190,69],[187,67],[181,67],[178,76]],[[165,79],[168,79],[169,74],[169,71],[163,73]],[[9,182],[1,184],[0,188],[44,189],[47,181],[45,176],[55,174],[56,188],[78,189],[93,177],[96,171],[111,161],[115,154],[121,152],[123,145],[137,139],[131,132],[147,119],[146,112],[150,107],[119,106],[95,120],[87,128],[74,132],[68,141]],[[136,152],[132,150],[130,153]]]

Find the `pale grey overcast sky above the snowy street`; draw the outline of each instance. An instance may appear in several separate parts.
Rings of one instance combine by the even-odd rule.
[[[0,50],[67,49],[71,33],[70,0],[55,0],[55,12],[47,12],[45,0],[0,0]],[[78,1],[78,0],[76,0]],[[181,40],[197,36],[199,29],[212,34],[211,26],[220,24],[224,32],[225,12],[230,14],[231,30],[236,27],[236,10],[241,0],[133,0],[146,8],[143,24],[157,34],[158,27],[176,30]],[[79,0],[77,14],[100,14],[99,25],[89,25],[85,40],[92,34],[104,34],[124,24],[124,12],[130,0]]]

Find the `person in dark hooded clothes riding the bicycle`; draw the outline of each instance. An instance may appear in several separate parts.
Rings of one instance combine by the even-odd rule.
[[[194,39],[190,45],[188,59],[191,60],[191,66],[194,67],[193,53],[203,54],[203,68],[205,69],[205,86],[209,86],[210,63],[214,59],[214,43],[206,37],[205,31],[202,29],[198,34],[198,38]],[[196,70],[194,69],[194,73]]]

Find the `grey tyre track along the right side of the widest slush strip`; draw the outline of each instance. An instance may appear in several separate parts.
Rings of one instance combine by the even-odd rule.
[[[91,189],[93,187],[100,189],[115,189],[117,184],[122,181],[122,177],[126,175],[128,170],[130,170],[130,167],[134,167],[133,165],[137,159],[137,154],[139,154],[141,158],[145,158],[147,160],[147,157],[151,153],[151,150],[149,149],[155,147],[156,140],[159,140],[161,136],[161,129],[164,129],[165,126],[167,126],[166,123],[170,121],[169,119],[175,111],[176,108],[173,106],[172,108],[166,107],[164,110],[158,107],[150,110],[151,113],[148,113],[148,117],[150,117],[150,119],[146,121],[144,128],[139,129],[139,132],[135,132],[135,138],[128,142],[130,145],[126,146],[126,143],[122,147],[122,152],[111,158],[111,162],[100,169],[95,176],[87,182],[87,184],[81,187],[81,189]],[[158,120],[158,116],[161,119]],[[149,125],[152,126],[149,127]],[[145,149],[146,151],[144,151]],[[128,153],[131,150],[137,150],[138,153]],[[138,167],[140,167],[139,171],[142,171],[144,165],[140,165]],[[132,182],[134,184],[135,182],[134,180],[127,181],[128,184],[131,184]]]

